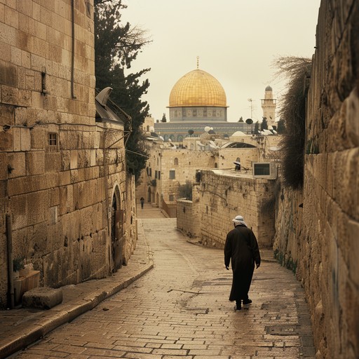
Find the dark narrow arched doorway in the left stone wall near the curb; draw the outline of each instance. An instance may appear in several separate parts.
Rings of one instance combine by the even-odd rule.
[[[111,271],[116,272],[123,262],[123,210],[120,191],[116,186],[111,205]]]

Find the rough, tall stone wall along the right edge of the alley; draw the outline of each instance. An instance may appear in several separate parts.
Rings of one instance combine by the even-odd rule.
[[[293,229],[297,236],[287,245],[297,247],[297,276],[311,309],[317,359],[359,358],[358,18],[358,1],[320,4],[307,102],[303,208],[292,207],[292,217],[299,219]]]

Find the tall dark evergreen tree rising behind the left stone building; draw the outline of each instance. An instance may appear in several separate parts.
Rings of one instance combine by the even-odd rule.
[[[142,29],[121,23],[121,11],[126,7],[122,0],[95,0],[95,76],[97,90],[111,87],[111,100],[132,118],[125,122],[125,131],[130,133],[126,163],[137,180],[146,166],[147,153],[140,128],[149,114],[149,104],[141,100],[149,81],[140,78],[150,69],[135,74],[126,74],[125,70],[130,69],[149,39]]]

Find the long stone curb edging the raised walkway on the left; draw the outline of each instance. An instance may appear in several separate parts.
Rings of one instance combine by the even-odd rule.
[[[95,306],[100,304],[104,299],[111,297],[112,295],[120,292],[124,288],[128,287],[131,283],[135,282],[138,278],[154,268],[153,262],[145,265],[142,269],[137,271],[135,275],[131,276],[122,283],[114,283],[113,285],[107,285],[107,287],[90,293],[86,298],[80,302],[69,304],[69,309],[60,312],[55,312],[47,318],[42,318],[37,324],[29,325],[25,330],[20,330],[17,336],[13,336],[8,342],[0,346],[0,359],[7,358],[9,355],[20,351],[22,348],[26,348],[34,341],[41,339],[49,332],[53,331],[60,325],[71,322],[81,314],[94,309]]]

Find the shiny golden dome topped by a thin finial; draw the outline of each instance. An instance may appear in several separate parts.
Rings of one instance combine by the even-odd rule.
[[[212,75],[200,69],[181,77],[173,86],[168,107],[227,107],[226,93]]]

